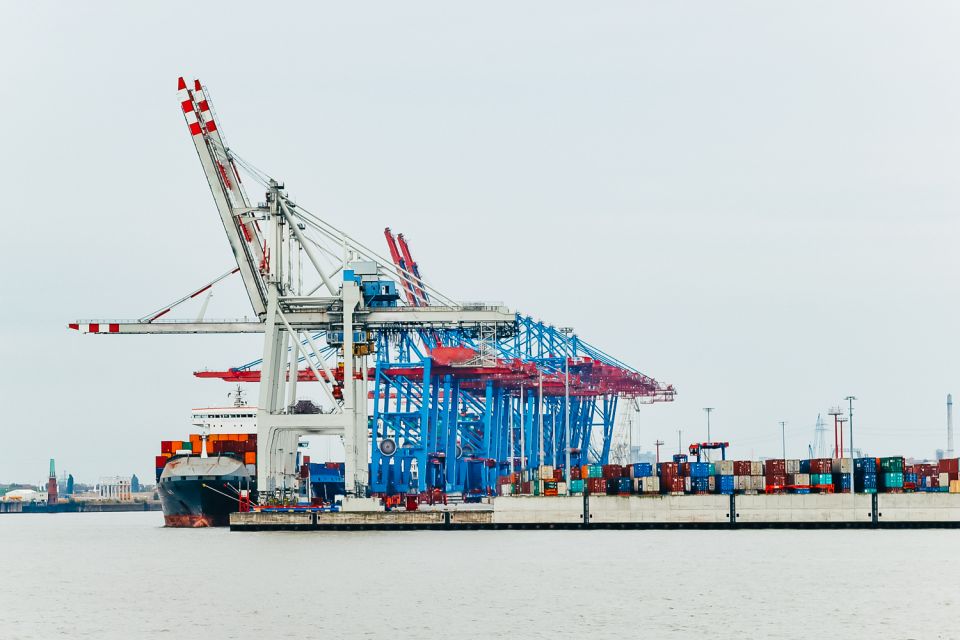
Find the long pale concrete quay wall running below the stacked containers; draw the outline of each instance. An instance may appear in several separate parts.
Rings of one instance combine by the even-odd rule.
[[[250,512],[232,531],[960,528],[960,494],[503,496],[422,511]]]

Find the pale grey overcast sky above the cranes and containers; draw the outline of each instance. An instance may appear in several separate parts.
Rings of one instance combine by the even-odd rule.
[[[159,3],[156,3],[159,4]],[[319,5],[319,3],[316,3]],[[876,455],[945,446],[957,370],[952,2],[0,4],[0,482],[152,480],[261,338],[84,336],[231,264],[176,99],[426,278],[672,383],[639,441],[800,457],[855,394]],[[589,6],[589,10],[587,7]],[[209,316],[249,313],[237,283]],[[185,312],[186,313],[186,312]],[[255,388],[251,396],[255,398]]]

